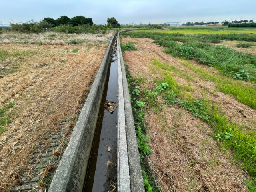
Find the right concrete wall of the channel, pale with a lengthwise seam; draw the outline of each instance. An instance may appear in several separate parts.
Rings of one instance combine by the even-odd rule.
[[[117,38],[118,55],[118,191],[145,191],[140,166],[132,106],[124,60]]]

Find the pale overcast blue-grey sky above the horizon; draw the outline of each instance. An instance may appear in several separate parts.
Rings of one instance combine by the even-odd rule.
[[[0,0],[0,22],[27,22],[82,15],[96,24],[115,17],[120,24],[249,20],[256,0]],[[1,24],[1,23],[0,23]]]

